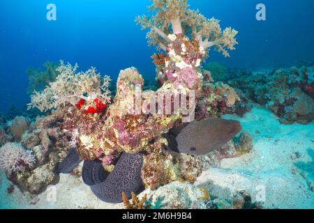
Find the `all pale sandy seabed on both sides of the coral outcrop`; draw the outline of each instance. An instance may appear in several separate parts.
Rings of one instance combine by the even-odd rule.
[[[195,185],[211,195],[231,199],[235,190],[246,190],[265,208],[314,208],[314,123],[282,125],[267,109],[254,105],[241,122],[253,135],[253,151],[222,160],[220,167],[202,173]],[[61,174],[55,187],[38,196],[17,187],[8,194],[10,182],[0,173],[0,208],[123,208],[97,199],[81,178]],[[55,195],[55,196],[54,196]]]

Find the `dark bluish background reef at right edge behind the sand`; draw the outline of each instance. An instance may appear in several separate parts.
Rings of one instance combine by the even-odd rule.
[[[240,72],[228,84],[240,89],[246,98],[265,105],[281,123],[307,124],[314,118],[311,68]],[[312,93],[312,94],[311,94]]]

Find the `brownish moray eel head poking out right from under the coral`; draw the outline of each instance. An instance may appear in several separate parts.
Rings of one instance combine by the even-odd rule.
[[[207,155],[241,131],[238,121],[222,118],[209,118],[202,121],[184,123],[179,128],[163,134],[168,141],[168,148],[179,153]]]

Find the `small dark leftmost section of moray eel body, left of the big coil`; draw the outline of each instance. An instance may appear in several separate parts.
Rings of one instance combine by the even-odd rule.
[[[61,174],[70,174],[80,162],[82,162],[82,159],[78,155],[76,148],[71,148],[63,162],[59,164],[58,172]]]

